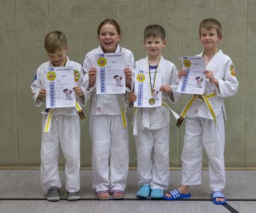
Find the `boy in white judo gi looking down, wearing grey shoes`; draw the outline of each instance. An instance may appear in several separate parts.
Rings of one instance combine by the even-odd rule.
[[[49,61],[38,67],[37,75],[31,85],[34,104],[40,107],[46,97],[45,80],[49,68],[55,66],[73,66],[74,79],[77,85],[73,87],[80,104],[85,104],[85,87],[82,66],[67,57],[67,37],[63,32],[49,32],[44,39],[44,49]],[[50,78],[50,77],[49,77]],[[61,91],[62,92],[62,91]],[[80,105],[79,105],[80,106]],[[79,111],[81,108],[79,108]],[[60,200],[61,180],[58,172],[58,157],[60,149],[65,158],[65,175],[67,200],[79,199],[80,188],[80,121],[76,107],[46,109],[43,113],[41,141],[41,184],[48,192],[47,200]],[[49,130],[45,125],[50,124]]]

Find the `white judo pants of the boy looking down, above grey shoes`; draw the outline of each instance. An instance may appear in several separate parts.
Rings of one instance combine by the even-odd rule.
[[[48,133],[44,132],[47,115],[43,118],[41,142],[41,185],[61,187],[58,170],[60,150],[65,158],[67,192],[75,193],[80,188],[80,121],[79,116],[56,115],[51,118]]]

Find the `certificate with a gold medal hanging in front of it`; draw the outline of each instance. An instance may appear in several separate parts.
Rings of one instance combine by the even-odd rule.
[[[160,107],[162,105],[160,86],[160,71],[136,70],[134,92],[137,95],[137,101],[134,102],[134,107]]]

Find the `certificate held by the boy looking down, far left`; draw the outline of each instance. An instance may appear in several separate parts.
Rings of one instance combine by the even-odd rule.
[[[46,73],[46,108],[76,107],[73,87],[78,71],[73,66],[49,67]]]

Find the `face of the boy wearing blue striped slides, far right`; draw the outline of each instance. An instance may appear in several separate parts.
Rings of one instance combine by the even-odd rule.
[[[201,28],[200,31],[200,41],[204,48],[207,50],[216,49],[218,42],[221,40],[222,36],[217,34],[217,30],[212,28],[207,30],[206,28]]]

